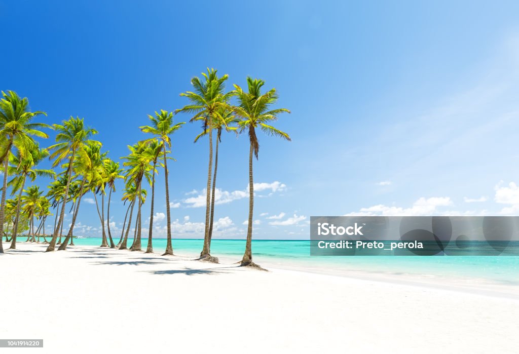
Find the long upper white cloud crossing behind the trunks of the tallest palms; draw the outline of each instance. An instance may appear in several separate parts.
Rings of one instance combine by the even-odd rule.
[[[254,193],[271,191],[280,192],[286,189],[286,185],[281,182],[274,181],[272,183],[254,183]],[[196,192],[196,193],[194,193]],[[187,194],[197,194],[196,196],[188,197],[183,202],[190,208],[199,208],[207,205],[207,189],[198,192],[193,190]],[[249,187],[244,190],[224,191],[216,188],[214,192],[214,204],[226,204],[236,200],[244,199],[249,196]],[[258,195],[263,196],[263,195]]]

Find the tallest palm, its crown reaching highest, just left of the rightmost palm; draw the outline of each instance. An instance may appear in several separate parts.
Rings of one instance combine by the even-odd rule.
[[[211,170],[213,164],[213,126],[216,122],[220,121],[222,117],[219,112],[222,107],[228,106],[227,102],[234,92],[224,93],[225,81],[229,77],[227,74],[218,78],[216,74],[217,70],[207,69],[207,74],[202,73],[205,81],[202,82],[200,78],[194,77],[191,79],[195,91],[187,91],[181,93],[181,96],[185,96],[191,102],[189,105],[184,106],[181,109],[177,109],[177,112],[187,112],[194,114],[190,119],[191,122],[195,120],[203,120],[204,130],[209,132],[209,166],[207,172],[207,196],[206,196],[206,229],[204,234],[203,249],[200,253],[200,259],[217,262],[216,258],[211,257],[210,243],[209,243],[209,219],[210,219],[210,205],[211,205]]]

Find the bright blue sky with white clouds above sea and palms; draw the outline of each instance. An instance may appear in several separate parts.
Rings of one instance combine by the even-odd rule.
[[[148,114],[186,104],[179,93],[206,67],[229,74],[229,88],[264,79],[292,110],[277,126],[293,141],[260,137],[258,239],[308,238],[317,215],[515,215],[518,12],[506,1],[0,0],[0,89],[29,97],[46,122],[84,117],[118,160],[144,138]],[[193,144],[199,131],[187,123],[173,136],[173,237],[202,235],[208,156],[207,140]],[[245,136],[223,137],[216,237],[245,237],[247,159]],[[75,234],[99,235],[90,197]],[[162,199],[160,174],[157,237]]]

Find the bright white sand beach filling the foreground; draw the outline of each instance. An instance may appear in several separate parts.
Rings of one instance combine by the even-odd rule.
[[[44,340],[22,352],[516,353],[519,345],[513,296],[45,247],[20,243],[0,255],[0,337]]]

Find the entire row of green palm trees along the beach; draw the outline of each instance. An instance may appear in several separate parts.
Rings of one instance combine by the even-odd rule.
[[[160,110],[155,115],[148,116],[149,125],[140,130],[150,137],[128,146],[129,153],[122,159],[122,167],[107,157],[102,151],[100,141],[94,140],[98,132],[85,125],[84,119],[71,117],[62,124],[48,125],[34,122],[34,118],[45,115],[45,112],[31,112],[27,98],[20,98],[15,92],[2,92],[0,102],[0,164],[3,175],[2,201],[0,207],[0,235],[12,233],[10,248],[16,248],[17,234],[29,230],[28,240],[36,241],[36,233],[45,228],[45,220],[50,208],[56,209],[54,228],[47,251],[53,251],[57,244],[59,249],[66,249],[73,241],[73,230],[79,213],[82,197],[92,193],[97,206],[101,224],[101,247],[141,250],[142,239],[142,206],[146,201],[147,192],[143,181],[151,186],[151,210],[149,217],[148,243],[146,252],[153,252],[153,216],[155,203],[155,175],[161,169],[165,174],[167,244],[163,255],[172,255],[171,213],[169,202],[168,157],[172,146],[171,135],[181,129],[185,122],[174,123],[173,115],[185,113],[191,116],[190,122],[200,121],[202,132],[195,138],[195,143],[202,137],[208,137],[209,164],[207,177],[206,220],[204,243],[200,259],[217,262],[211,256],[211,238],[213,234],[216,174],[218,166],[218,145],[221,143],[223,132],[249,135],[249,218],[247,242],[241,261],[242,265],[254,266],[252,262],[252,218],[254,206],[253,157],[258,158],[260,145],[256,132],[263,131],[290,141],[288,134],[270,125],[282,112],[290,112],[285,108],[272,109],[278,99],[275,89],[262,93],[264,81],[247,78],[248,90],[244,91],[238,85],[234,90],[226,91],[225,83],[228,75],[218,77],[217,70],[209,69],[202,73],[202,78],[191,80],[193,91],[181,93],[187,97],[189,104],[174,112]],[[231,103],[231,101],[235,103]],[[52,129],[57,132],[56,144],[46,149],[40,148],[36,138],[47,138],[42,130]],[[215,137],[213,137],[215,134]],[[215,140],[215,141],[214,141]],[[214,149],[213,149],[214,148]],[[53,169],[62,169],[56,174],[53,169],[38,169],[37,165],[44,159],[52,161]],[[9,178],[12,177],[10,180]],[[50,177],[46,196],[39,187],[25,188],[28,179],[34,182],[37,177]],[[125,220],[119,242],[116,244],[110,229],[110,205],[112,193],[116,191],[115,182],[124,179],[125,189],[122,201],[128,203]],[[7,187],[14,199],[7,201]],[[23,194],[25,193],[25,194]],[[107,194],[107,203],[105,196]],[[99,197],[98,197],[99,196]],[[65,210],[71,204],[72,221],[70,228],[61,242]],[[106,213],[105,213],[105,204]],[[135,220],[134,209],[136,209]],[[23,211],[23,213],[20,213]],[[106,218],[105,218],[106,215]],[[39,225],[34,230],[34,219]],[[132,222],[133,242],[128,246],[128,238]],[[4,228],[6,230],[4,231]],[[22,230],[23,229],[23,230]],[[32,237],[31,237],[32,235]],[[44,231],[45,236],[45,231]],[[58,236],[60,237],[58,240]],[[2,236],[3,237],[3,236]],[[46,238],[44,237],[46,240]],[[108,244],[110,243],[110,244]],[[0,242],[0,252],[3,252]]]

